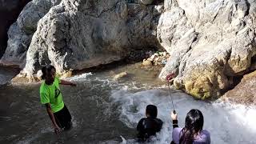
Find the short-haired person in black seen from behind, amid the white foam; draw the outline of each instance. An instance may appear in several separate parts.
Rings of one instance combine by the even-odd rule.
[[[162,129],[162,120],[157,118],[158,108],[154,105],[146,106],[146,118],[138,122],[138,142],[150,140],[150,136],[155,135]]]

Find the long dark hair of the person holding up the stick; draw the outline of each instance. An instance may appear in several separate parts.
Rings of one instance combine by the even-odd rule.
[[[182,129],[180,144],[192,144],[194,135],[202,130],[203,115],[200,110],[192,109],[186,114],[185,127]]]

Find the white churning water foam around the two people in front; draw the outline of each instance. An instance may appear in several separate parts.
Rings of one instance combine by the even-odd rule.
[[[174,93],[174,106],[178,112],[179,126],[184,126],[186,113],[191,109],[202,111],[205,118],[204,129],[210,131],[211,143],[248,143],[253,144],[256,134],[256,108],[234,106],[224,102],[202,102],[183,94]],[[167,90],[143,90],[131,93],[127,86],[113,90],[111,97],[120,104],[120,120],[131,128],[136,128],[140,118],[145,117],[148,104],[158,106],[158,118],[164,122],[161,132],[151,143],[170,143],[172,105]],[[134,140],[130,140],[133,143]],[[129,140],[127,142],[129,143]]]

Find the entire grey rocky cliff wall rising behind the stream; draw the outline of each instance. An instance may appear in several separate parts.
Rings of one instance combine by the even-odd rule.
[[[160,78],[196,98],[217,98],[254,69],[254,0],[34,0],[9,30],[2,63],[33,77],[52,63],[58,72],[118,61],[156,47],[170,58]]]

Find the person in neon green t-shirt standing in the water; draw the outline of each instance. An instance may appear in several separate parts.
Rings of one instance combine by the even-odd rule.
[[[62,100],[62,93],[59,84],[76,86],[72,82],[67,82],[55,77],[56,70],[54,66],[42,67],[42,79],[40,86],[40,99],[43,105],[46,105],[47,113],[54,125],[54,132],[58,134],[61,129],[70,130],[72,126],[71,115]]]

